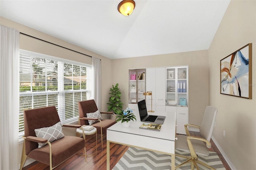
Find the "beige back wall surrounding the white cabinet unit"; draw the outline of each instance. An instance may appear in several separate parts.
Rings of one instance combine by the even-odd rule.
[[[114,59],[112,82],[118,83],[124,108],[128,106],[128,69],[188,65],[189,70],[189,123],[200,125],[204,109],[208,105],[208,51],[191,51]],[[165,84],[163,82],[163,87]]]

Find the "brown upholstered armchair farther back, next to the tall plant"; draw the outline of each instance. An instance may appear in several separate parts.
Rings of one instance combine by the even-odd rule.
[[[104,119],[100,120],[96,117],[88,117],[87,113],[96,113],[98,111],[98,107],[94,101],[92,100],[86,100],[86,101],[79,101],[78,102],[78,110],[79,110],[79,121],[80,125],[89,125],[88,121],[96,121],[91,126],[97,128],[97,133],[101,134],[101,147],[103,148],[102,143],[102,135],[106,134],[107,128],[114,125],[116,123],[115,120],[110,119]],[[113,112],[100,112],[100,114],[114,114]]]

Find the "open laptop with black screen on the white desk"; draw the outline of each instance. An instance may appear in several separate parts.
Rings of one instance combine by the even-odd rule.
[[[138,102],[140,121],[147,123],[164,124],[165,116],[148,115],[145,99]]]

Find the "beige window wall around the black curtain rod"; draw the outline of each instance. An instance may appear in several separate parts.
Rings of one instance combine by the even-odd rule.
[[[90,55],[93,57],[97,57],[101,59],[101,67],[102,67],[102,82],[104,82],[104,85],[102,85],[102,111],[105,111],[107,109],[106,103],[108,102],[108,90],[111,87],[111,65],[112,60],[104,57],[102,55],[93,53],[91,51],[88,51],[84,48],[78,47],[76,45],[73,45],[71,43],[65,42],[63,40],[60,40],[58,38],[54,38],[52,36],[49,36],[48,34],[44,34],[42,32],[39,32],[37,30],[34,30],[32,28],[26,27],[24,25],[18,24],[16,22],[13,22],[11,20],[8,20],[6,18],[0,18],[0,23],[4,26],[8,26],[11,28],[15,28],[19,32],[22,32],[24,34],[28,34],[30,36],[34,36],[36,38],[40,38],[42,40],[46,40],[51,43],[55,43],[58,45],[61,45],[63,47],[72,49],[74,51],[78,51],[80,53],[84,53],[86,55]],[[80,53],[76,53],[74,51],[64,49],[62,47],[58,47],[56,45],[52,45],[47,42],[43,42],[41,40],[37,40],[25,35],[20,34],[20,49],[25,49],[28,51],[34,51],[37,53],[43,53],[46,55],[51,55],[54,57],[60,57],[63,59],[69,59],[72,61],[77,61],[81,63],[92,63],[92,58],[88,57],[86,55],[82,55]]]

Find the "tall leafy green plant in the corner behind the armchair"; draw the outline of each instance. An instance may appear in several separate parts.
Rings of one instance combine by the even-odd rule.
[[[121,101],[121,92],[118,88],[118,83],[116,85],[112,85],[112,88],[110,88],[110,97],[109,97],[109,103],[107,103],[108,111],[113,111],[115,114],[123,113],[123,103]],[[115,119],[115,118],[114,118]]]

